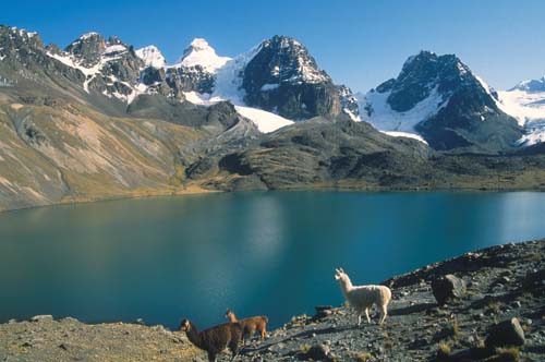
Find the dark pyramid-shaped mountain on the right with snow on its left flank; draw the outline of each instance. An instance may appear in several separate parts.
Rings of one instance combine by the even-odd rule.
[[[436,149],[498,152],[522,136],[496,92],[452,55],[421,51],[397,79],[359,99],[363,120],[383,131],[420,134]]]

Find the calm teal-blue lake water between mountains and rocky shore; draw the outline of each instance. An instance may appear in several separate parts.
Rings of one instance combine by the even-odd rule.
[[[36,314],[271,327],[340,304],[334,269],[379,282],[545,237],[545,193],[257,192],[0,214],[0,322]]]

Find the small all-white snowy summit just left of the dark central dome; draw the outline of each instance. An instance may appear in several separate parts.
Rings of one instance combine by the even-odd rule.
[[[231,58],[219,57],[216,50],[210,47],[208,41],[203,38],[195,38],[190,46],[183,51],[183,57],[180,59],[178,67],[201,67],[208,73],[214,73],[219,68],[223,67]]]

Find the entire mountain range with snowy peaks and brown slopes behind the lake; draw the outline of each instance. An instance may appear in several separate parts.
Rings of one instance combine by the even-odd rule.
[[[0,26],[0,209],[194,184],[415,186],[439,154],[543,142],[544,84],[496,92],[456,56],[421,51],[354,94],[284,36],[234,58],[197,38],[168,64],[114,36],[61,49]]]

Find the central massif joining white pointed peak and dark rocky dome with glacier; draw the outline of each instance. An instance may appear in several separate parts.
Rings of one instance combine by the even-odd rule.
[[[172,65],[152,64],[144,53],[149,48],[136,51],[150,64],[142,72],[144,86],[140,89],[205,106],[229,100],[262,132],[275,131],[299,119],[334,117],[340,112],[340,90],[295,39],[275,36],[229,58],[218,56],[205,39],[196,38]],[[169,90],[157,90],[158,86],[167,86]],[[346,99],[350,98],[349,93],[350,89],[344,90]],[[349,108],[356,118],[354,99],[347,100]]]

